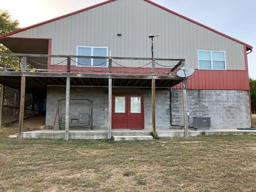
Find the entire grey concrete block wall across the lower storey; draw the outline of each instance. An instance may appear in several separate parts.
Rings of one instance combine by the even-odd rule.
[[[70,98],[93,100],[93,128],[108,129],[108,88],[70,88]],[[58,100],[66,98],[66,88],[48,87],[46,126],[52,126],[57,112]],[[152,98],[150,89],[113,88],[113,92],[144,93],[145,129],[152,130]],[[190,112],[188,125],[193,125],[193,116],[210,116],[212,128],[231,129],[250,127],[248,91],[187,90],[187,108]],[[85,101],[70,102],[70,113],[86,111]],[[62,111],[65,111],[62,108]],[[156,128],[177,129],[184,125],[183,116],[170,116],[170,90],[156,90]],[[172,113],[183,114],[182,90],[172,90]],[[58,122],[58,117],[56,122]],[[55,123],[54,129],[58,129]]]

